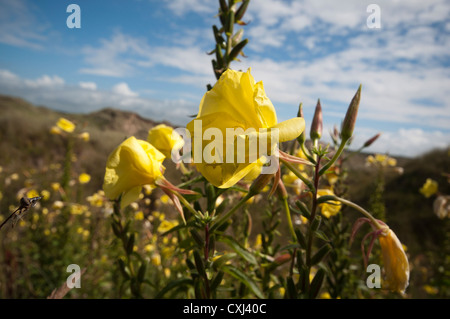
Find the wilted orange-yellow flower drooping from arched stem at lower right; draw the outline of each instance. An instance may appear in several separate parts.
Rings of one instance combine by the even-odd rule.
[[[404,293],[409,284],[409,263],[402,244],[389,228],[378,239],[385,269],[383,287]]]

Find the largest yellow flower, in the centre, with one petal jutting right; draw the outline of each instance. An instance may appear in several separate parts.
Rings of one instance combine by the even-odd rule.
[[[262,137],[270,135],[269,129],[272,128],[279,129],[278,142],[289,141],[303,132],[305,121],[298,117],[278,123],[275,108],[266,96],[263,83],[255,83],[250,69],[247,72],[228,69],[203,96],[197,118],[187,125],[193,138],[193,155],[197,170],[220,188],[229,188],[244,177],[249,180],[256,178],[261,173],[263,155],[266,154],[253,156],[255,151],[250,149],[254,147],[250,148],[250,143],[246,140],[251,138],[254,142],[255,137],[256,140],[262,140]],[[228,138],[230,133],[227,134],[227,129],[234,131]],[[265,133],[261,134],[264,130]],[[218,141],[210,142],[207,136],[209,133],[205,134],[206,131],[219,131],[221,136],[217,137]],[[209,137],[213,139],[212,136]],[[245,150],[232,151],[229,146],[236,146],[236,141],[244,141]],[[211,147],[217,144],[218,147],[213,147],[213,155]],[[268,154],[273,145],[269,147]],[[200,152],[197,150],[201,150],[201,154],[198,154]],[[207,158],[202,156],[204,153],[207,153]],[[239,160],[238,157],[245,157],[245,161]]]

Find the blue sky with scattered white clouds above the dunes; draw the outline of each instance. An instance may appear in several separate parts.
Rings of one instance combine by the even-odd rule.
[[[81,8],[69,29],[66,8]],[[367,6],[380,8],[370,29]],[[104,107],[185,125],[215,83],[218,1],[0,0],[0,93],[67,112]],[[415,156],[450,144],[450,4],[429,1],[252,0],[247,58],[279,121],[303,102],[309,131],[318,98],[324,140],[359,84],[354,147]]]

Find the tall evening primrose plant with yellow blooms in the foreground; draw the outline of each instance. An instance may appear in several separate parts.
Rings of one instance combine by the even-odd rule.
[[[144,297],[145,285],[153,291],[160,287],[148,280],[146,271],[148,266],[161,266],[162,254],[148,244],[151,265],[144,261],[145,252],[139,254],[134,248],[140,234],[130,226],[127,214],[128,206],[142,199],[145,186],[151,192],[162,190],[180,218],[150,230],[152,236],[177,238],[178,247],[166,249],[164,258],[170,257],[167,252],[175,254],[184,267],[176,277],[164,270],[170,280],[160,287],[157,298],[317,298],[327,289],[329,296],[340,297],[342,287],[336,287],[345,283],[332,282],[337,277],[331,268],[339,261],[337,239],[341,249],[342,238],[348,237],[343,236],[345,228],[338,227],[334,237],[326,230],[333,228],[329,226],[335,216],[342,216],[344,206],[364,215],[355,223],[352,240],[364,223],[373,228],[362,241],[364,247],[371,238],[363,260],[368,262],[378,238],[384,288],[403,293],[409,283],[409,264],[395,233],[334,189],[341,156],[353,138],[361,86],[334,148],[321,143],[323,109],[318,100],[307,145],[302,104],[297,116],[278,122],[275,106],[251,69],[230,68],[247,43],[241,40],[243,31],[235,34],[233,26],[245,25],[242,17],[249,1],[219,3],[222,27],[213,27],[217,44],[211,52],[216,54],[213,68],[218,81],[208,86],[195,118],[185,130],[156,126],[149,130],[147,141],[129,137],[108,158],[103,189],[114,202],[113,231],[125,253],[118,259],[123,282],[138,298]],[[285,145],[290,145],[288,150]],[[182,175],[177,186],[164,176],[162,163],[168,156],[185,164],[176,166]],[[289,191],[293,187],[294,193]],[[263,193],[265,200],[255,200]],[[255,205],[263,207],[254,210]],[[145,218],[143,213],[135,216]],[[262,223],[258,234],[256,220]],[[258,240],[253,241],[252,235]],[[328,255],[334,264],[326,262]]]

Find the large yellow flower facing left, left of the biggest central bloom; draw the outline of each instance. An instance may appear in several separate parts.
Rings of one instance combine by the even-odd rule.
[[[121,199],[122,208],[139,198],[142,186],[162,177],[164,155],[134,136],[120,144],[106,163],[103,190],[109,199]]]

